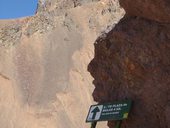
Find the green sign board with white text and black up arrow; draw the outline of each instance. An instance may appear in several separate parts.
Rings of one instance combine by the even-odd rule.
[[[128,118],[132,101],[119,101],[109,104],[92,105],[86,122],[123,120]]]

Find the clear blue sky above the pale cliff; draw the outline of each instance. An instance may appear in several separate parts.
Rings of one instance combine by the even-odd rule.
[[[0,0],[0,19],[15,19],[32,16],[38,0]]]

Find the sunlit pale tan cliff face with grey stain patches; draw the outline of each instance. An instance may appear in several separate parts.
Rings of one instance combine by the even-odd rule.
[[[0,21],[0,127],[90,127],[93,42],[123,15],[114,0],[41,0]]]

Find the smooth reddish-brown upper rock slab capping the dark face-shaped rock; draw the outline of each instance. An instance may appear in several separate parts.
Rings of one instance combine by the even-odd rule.
[[[126,13],[158,22],[170,22],[169,0],[119,0]]]

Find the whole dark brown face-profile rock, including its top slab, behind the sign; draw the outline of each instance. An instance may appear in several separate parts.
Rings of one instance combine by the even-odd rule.
[[[93,97],[134,101],[122,128],[170,128],[170,6],[166,0],[134,1],[120,0],[126,15],[95,43],[88,67]],[[114,121],[108,125],[114,128]]]

